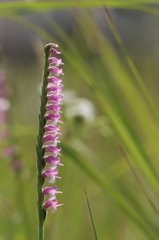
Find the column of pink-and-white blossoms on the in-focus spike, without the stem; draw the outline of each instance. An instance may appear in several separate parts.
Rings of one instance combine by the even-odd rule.
[[[44,156],[43,160],[46,164],[45,169],[42,171],[42,177],[44,180],[48,180],[49,183],[53,184],[57,179],[61,179],[58,176],[58,166],[63,166],[60,163],[60,155],[61,148],[57,145],[60,143],[59,136],[60,126],[59,123],[62,123],[61,118],[61,109],[62,109],[62,79],[58,77],[60,75],[64,75],[60,65],[63,65],[61,59],[58,59],[53,54],[61,54],[56,50],[58,45],[50,44],[49,57],[48,57],[48,71],[49,75],[47,77],[47,85],[46,85],[46,105],[45,105],[45,126],[44,126],[44,134],[43,134],[43,150]],[[56,199],[56,194],[62,193],[57,190],[57,187],[46,186],[42,188],[43,196],[48,196],[48,199],[43,204],[43,209],[51,210],[51,212],[55,212],[56,209],[63,204],[57,204],[58,201]]]

